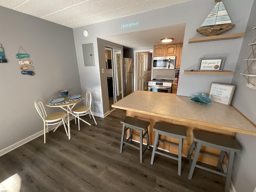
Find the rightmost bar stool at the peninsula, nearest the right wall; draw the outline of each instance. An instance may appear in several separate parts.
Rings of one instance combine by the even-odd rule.
[[[195,150],[195,154],[194,154],[192,164],[190,166],[188,179],[191,180],[195,167],[206,170],[206,171],[210,171],[212,173],[219,174],[226,177],[225,192],[229,192],[230,184],[231,184],[231,173],[232,173],[232,166],[234,161],[234,154],[235,152],[241,152],[242,147],[238,144],[237,140],[226,135],[219,135],[219,134],[210,133],[202,130],[193,130],[193,135],[194,135],[194,141],[188,153],[188,159],[190,160],[190,164],[191,164],[191,154],[194,150]],[[207,146],[207,147],[219,149],[221,150],[220,155],[217,156],[214,154],[209,154],[207,152],[202,152],[200,151],[201,146]],[[210,168],[206,168],[205,166],[196,164],[199,153],[218,158],[218,164],[217,164],[218,170],[213,170]],[[228,160],[227,173],[225,173],[222,168],[222,162],[224,160],[224,156],[226,156]]]

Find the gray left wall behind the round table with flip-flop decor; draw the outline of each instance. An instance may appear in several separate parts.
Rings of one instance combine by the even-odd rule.
[[[36,99],[46,102],[70,89],[81,93],[74,36],[67,28],[0,6],[0,43],[8,63],[0,63],[0,154],[4,148],[43,130],[34,107]],[[16,53],[22,46],[34,76],[22,75]],[[46,107],[48,112],[57,108]],[[47,139],[47,137],[46,137]],[[68,139],[68,138],[67,138]],[[42,138],[43,144],[43,138]]]

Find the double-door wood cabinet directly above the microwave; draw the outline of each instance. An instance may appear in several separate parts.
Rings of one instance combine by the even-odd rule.
[[[154,57],[175,56],[177,44],[154,45]]]

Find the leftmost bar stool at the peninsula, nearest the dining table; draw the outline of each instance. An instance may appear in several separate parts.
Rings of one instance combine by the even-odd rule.
[[[126,116],[126,118],[124,118],[121,121],[121,124],[123,124],[123,130],[122,130],[120,153],[122,153],[122,151],[123,151],[124,144],[132,146],[133,148],[140,150],[140,163],[142,163],[142,155],[144,154],[144,152],[147,148],[150,149],[149,139],[148,139],[148,126],[149,126],[150,122],[140,120],[140,119],[137,119],[134,117]],[[140,134],[132,133],[132,129],[140,131]],[[127,130],[129,130],[129,138],[126,141],[124,141],[124,133]],[[143,134],[143,132],[144,132],[144,134]],[[136,136],[140,137],[140,147],[137,147],[134,144],[130,143],[132,141],[132,137],[131,137],[132,135],[136,135]],[[143,138],[146,138],[146,140],[147,140],[147,145],[144,150],[143,150]],[[130,142],[128,142],[128,140],[130,140]]]

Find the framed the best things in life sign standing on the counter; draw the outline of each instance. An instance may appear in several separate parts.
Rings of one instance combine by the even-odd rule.
[[[212,83],[209,96],[215,102],[230,106],[235,88],[235,85]]]

